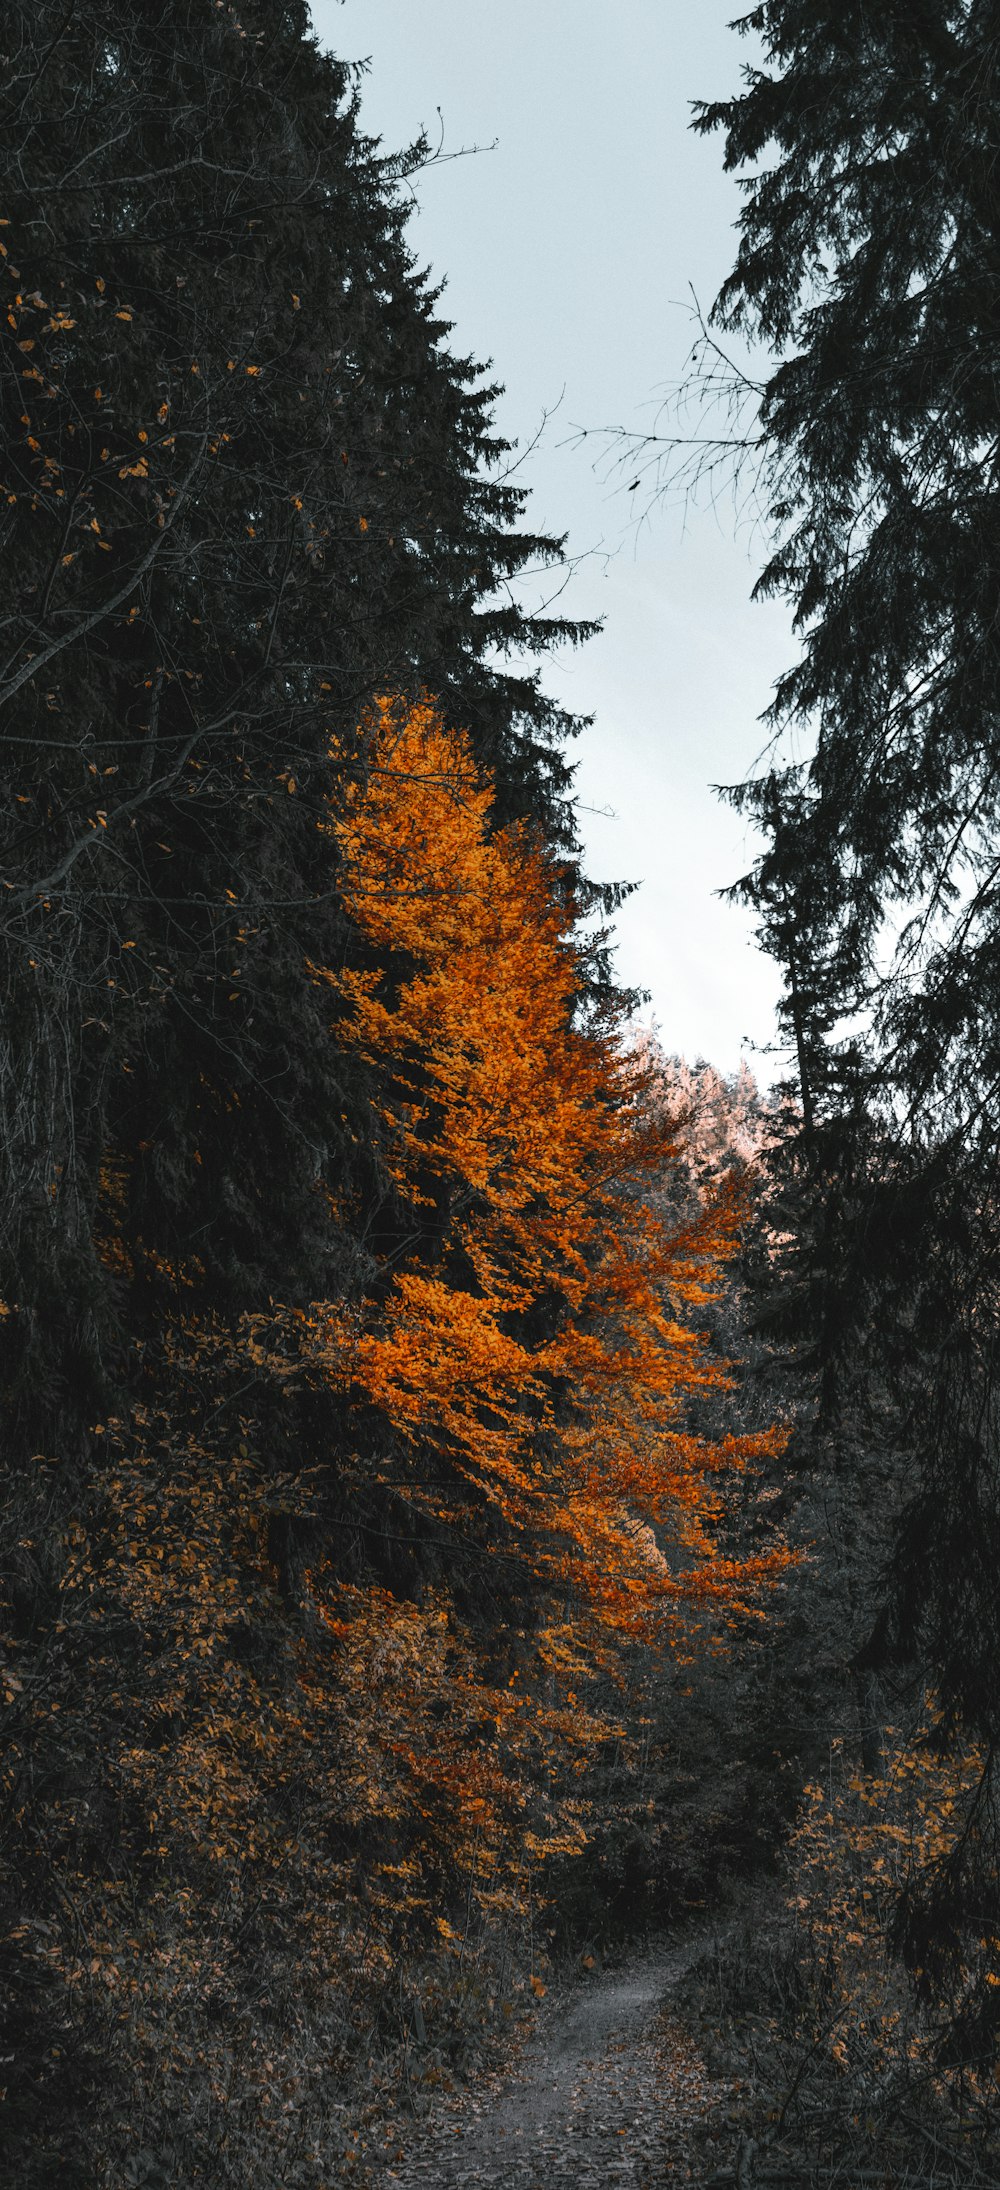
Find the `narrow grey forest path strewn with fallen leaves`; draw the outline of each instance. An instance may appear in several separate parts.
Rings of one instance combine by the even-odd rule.
[[[591,1978],[540,2021],[497,2096],[466,2096],[457,2113],[431,2122],[387,2170],[385,2190],[685,2181],[691,2137],[729,2096],[672,2013],[672,1993],[705,1945],[705,1932],[663,1940]]]

